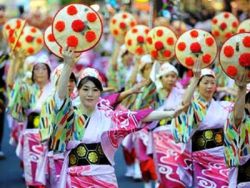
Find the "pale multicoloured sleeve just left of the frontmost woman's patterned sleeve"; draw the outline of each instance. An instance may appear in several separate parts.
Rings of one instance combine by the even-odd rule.
[[[39,132],[41,141],[44,142],[49,139],[52,132],[52,121],[55,115],[55,100],[51,96],[44,102],[40,114]]]

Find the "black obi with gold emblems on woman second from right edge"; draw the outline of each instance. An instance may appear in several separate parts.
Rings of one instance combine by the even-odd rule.
[[[218,146],[223,146],[223,129],[207,129],[197,131],[192,136],[192,151],[200,151]]]

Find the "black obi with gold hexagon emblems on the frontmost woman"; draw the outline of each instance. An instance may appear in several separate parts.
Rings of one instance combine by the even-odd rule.
[[[111,165],[103,153],[101,143],[81,143],[70,151],[69,167],[84,165]]]

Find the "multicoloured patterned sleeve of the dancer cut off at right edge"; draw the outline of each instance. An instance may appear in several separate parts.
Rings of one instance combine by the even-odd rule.
[[[229,167],[240,165],[240,157],[250,155],[250,118],[245,115],[237,128],[231,112],[224,126],[224,154]]]

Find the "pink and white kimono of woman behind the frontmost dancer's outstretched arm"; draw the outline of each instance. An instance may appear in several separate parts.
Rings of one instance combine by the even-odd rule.
[[[183,89],[174,87],[167,98],[160,96],[161,110],[170,110],[178,107],[182,102]],[[150,145],[150,144],[149,144]],[[184,187],[177,174],[180,160],[181,144],[174,141],[171,133],[171,119],[157,122],[157,127],[152,132],[152,152],[157,168],[160,187]]]

